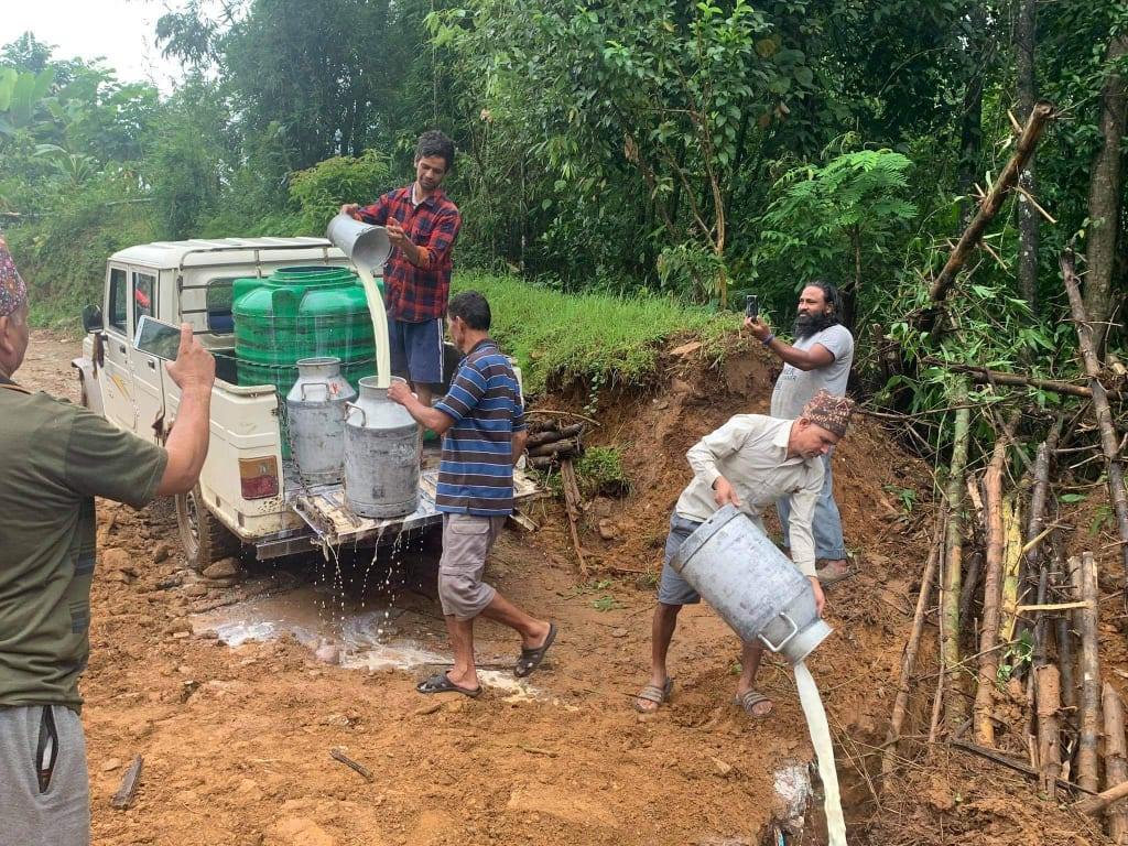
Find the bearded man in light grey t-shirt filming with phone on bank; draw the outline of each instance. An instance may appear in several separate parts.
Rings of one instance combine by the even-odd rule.
[[[783,360],[783,371],[772,391],[772,416],[793,420],[819,390],[831,396],[846,395],[846,381],[854,363],[854,336],[841,325],[841,297],[829,282],[809,282],[799,294],[799,307],[792,331],[794,344],[776,337],[758,312],[757,301],[746,306],[744,327],[776,356]],[[834,584],[851,575],[843,538],[841,515],[835,502],[831,477],[834,450],[822,456],[826,473],[822,491],[814,509],[814,555],[822,562],[817,571],[822,584]],[[788,523],[791,508],[786,500],[776,503],[783,527],[783,546],[791,547]]]

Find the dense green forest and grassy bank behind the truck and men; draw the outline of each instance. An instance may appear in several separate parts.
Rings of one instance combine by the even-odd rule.
[[[1042,227],[1038,310],[1016,294],[1008,201],[958,280],[942,340],[909,318],[971,183],[1013,150],[1010,5],[221,6],[168,3],[158,38],[191,72],[167,97],[30,35],[0,47],[0,222],[37,316],[77,314],[126,244],[317,233],[341,202],[406,184],[415,136],[438,126],[459,150],[446,184],[464,212],[457,265],[550,280],[456,282],[488,289],[535,390],[578,380],[594,407],[603,386],[653,379],[668,340],[702,337],[712,353],[737,326],[686,303],[749,290],[778,319],[814,275],[852,300],[863,377],[871,321],[929,360],[888,386],[914,411],[946,405],[951,363],[1077,372],[1057,254],[1092,228],[1100,89],[1128,70],[1108,60],[1122,3],[1041,5],[1039,91],[1069,120],[1037,158],[1039,202],[1060,221]],[[980,426],[1006,396],[972,391]],[[944,418],[931,420],[942,448]]]

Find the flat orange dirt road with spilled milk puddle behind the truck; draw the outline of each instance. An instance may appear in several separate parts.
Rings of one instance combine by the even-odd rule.
[[[20,381],[71,395],[74,349],[36,334]],[[365,607],[354,594],[342,609],[334,569],[316,557],[284,571],[253,565],[245,583],[212,587],[179,561],[168,503],[142,512],[103,503],[99,535],[82,685],[99,844],[752,841],[773,807],[775,769],[809,757],[782,668],[765,668],[772,720],[751,724],[731,704],[737,652],[705,609],[685,615],[675,645],[675,705],[646,720],[631,711],[650,590],[582,583],[548,536],[508,531],[490,578],[555,619],[558,644],[528,685],[499,672],[468,700],[416,694],[425,667],[381,669],[447,654],[425,588],[400,590],[384,623],[387,596],[369,590]],[[406,557],[426,584],[433,555]],[[387,569],[376,563],[374,584]],[[193,615],[270,585],[265,598]],[[381,625],[391,629],[380,634],[387,661],[364,649]],[[215,626],[231,641],[267,640],[231,646]],[[321,663],[301,643],[346,627],[354,669]],[[515,655],[501,628],[483,625],[478,637],[486,660]],[[334,747],[372,782],[333,760]],[[115,811],[109,799],[139,754],[140,796]]]

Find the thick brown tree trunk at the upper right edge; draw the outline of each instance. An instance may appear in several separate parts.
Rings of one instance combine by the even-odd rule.
[[[1109,44],[1109,64],[1128,54],[1128,34],[1116,36]],[[1120,233],[1120,161],[1125,135],[1125,109],[1128,91],[1125,79],[1113,71],[1104,78],[1101,89],[1100,132],[1103,143],[1093,160],[1089,182],[1089,230],[1085,259],[1085,311],[1094,323],[1093,344],[1098,354],[1108,334],[1107,320],[1112,316],[1112,272]]]

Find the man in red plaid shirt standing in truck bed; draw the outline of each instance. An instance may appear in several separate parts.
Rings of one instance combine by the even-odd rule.
[[[384,305],[391,371],[407,377],[425,405],[442,382],[450,252],[462,227],[458,206],[439,187],[453,164],[453,142],[438,130],[424,132],[415,146],[415,182],[372,205],[341,206],[343,213],[388,230],[394,249],[384,272]]]

